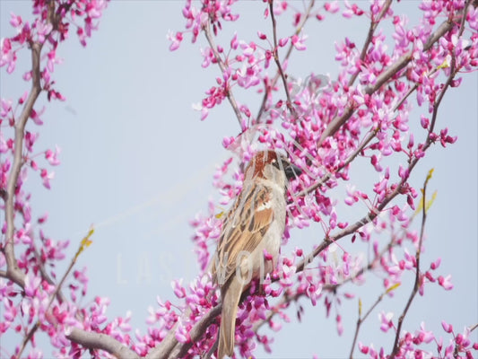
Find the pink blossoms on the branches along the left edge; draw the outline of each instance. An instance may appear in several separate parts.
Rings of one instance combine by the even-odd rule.
[[[7,74],[12,74],[19,57],[34,58],[31,70],[23,74],[27,87],[32,87],[30,83],[34,84],[33,87],[39,83],[38,90],[46,93],[48,101],[65,100],[56,91],[52,77],[56,65],[62,63],[62,59],[56,56],[56,50],[68,39],[72,28],[85,46],[91,31],[97,29],[98,19],[106,5],[106,1],[99,0],[36,0],[32,4],[32,22],[12,13],[10,24],[16,35],[2,39],[0,67],[4,67]],[[8,199],[12,197],[14,216],[13,223],[1,221],[0,333],[16,333],[13,337],[18,339],[13,353],[7,353],[4,347],[2,351],[3,355],[43,357],[43,349],[37,346],[35,339],[36,333],[41,331],[50,338],[55,355],[79,357],[88,349],[68,337],[74,328],[108,334],[128,343],[129,337],[125,333],[130,330],[127,324],[129,317],[109,322],[106,317],[109,300],[96,297],[91,302],[84,302],[88,285],[86,268],[74,268],[72,276],[59,286],[65,278],[56,266],[65,260],[69,242],[52,240],[43,232],[42,224],[48,220],[48,214],[32,217],[31,194],[24,186],[29,172],[34,171],[39,173],[43,185],[50,188],[54,178],[50,166],[60,164],[58,146],[46,150],[37,148],[45,108],[34,108],[38,97],[35,91],[24,92],[17,101],[2,98],[0,103],[1,208],[4,215]],[[15,131],[22,127],[23,134]],[[22,147],[17,148],[19,145]],[[12,172],[19,161],[20,171],[14,191],[9,193],[9,180],[15,178]],[[13,237],[8,238],[12,224]],[[22,276],[20,280],[13,281],[8,271],[11,269],[8,262],[12,259],[12,253],[7,250],[9,245],[14,248],[15,265]]]

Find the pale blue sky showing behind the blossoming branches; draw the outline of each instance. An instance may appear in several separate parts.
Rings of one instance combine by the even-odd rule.
[[[412,8],[418,2],[406,3],[400,6],[416,18]],[[67,100],[48,105],[43,127],[28,125],[30,130],[40,131],[38,151],[55,144],[62,149],[62,164],[54,169],[51,190],[42,188],[39,177],[30,174],[28,186],[33,192],[35,214],[48,211],[45,232],[55,240],[69,239],[70,256],[91,223],[95,224],[93,244],[78,263],[78,267],[88,266],[88,299],[95,295],[109,297],[110,318],[133,311],[133,326],[143,332],[146,309],[155,305],[156,296],[174,300],[171,280],[183,277],[187,282],[197,274],[188,221],[197,212],[206,211],[208,198],[217,196],[211,185],[214,166],[230,154],[222,148],[222,137],[239,133],[237,120],[226,103],[213,109],[204,122],[191,107],[201,101],[219,72],[200,66],[199,46],[192,46],[187,35],[178,51],[169,52],[166,33],[183,29],[182,5],[181,1],[110,3],[101,18],[100,31],[93,33],[87,48],[80,46],[72,31],[73,39],[58,51],[65,62],[56,66],[54,74],[57,88]],[[222,22],[227,43],[233,31],[242,39],[256,39],[256,30],[269,32],[269,20],[263,17],[265,4],[242,2],[235,6],[238,12],[245,12],[248,21]],[[1,37],[12,34],[10,11],[28,18],[30,2],[0,2]],[[290,18],[278,20],[285,20],[288,29]],[[289,69],[297,77],[310,72],[334,77],[338,71],[334,41],[348,35],[361,46],[368,23],[365,19],[347,22],[336,15],[310,25],[306,29],[310,50],[291,57]],[[202,38],[198,41],[205,44]],[[27,66],[19,61],[22,71],[14,76],[2,69],[2,97],[16,99],[29,88],[19,81]],[[428,286],[427,295],[413,302],[404,328],[414,330],[425,321],[427,328],[441,335],[445,333],[440,320],[447,320],[459,331],[478,321],[477,87],[477,74],[467,74],[458,89],[448,92],[438,127],[447,126],[458,141],[447,149],[434,146],[413,175],[413,184],[420,188],[426,173],[435,168],[430,192],[437,189],[438,197],[430,210],[422,258],[428,266],[441,257],[439,273],[451,274],[455,289],[445,292],[438,285]],[[239,92],[238,97],[257,109],[260,98],[254,93]],[[418,118],[411,121],[416,123]],[[378,178],[376,173],[368,175]],[[294,230],[289,247],[309,249],[321,238],[318,226]],[[59,267],[59,273],[65,265]],[[378,278],[375,285],[360,288],[364,309],[381,293],[379,282]],[[410,284],[396,291],[395,298],[379,305],[362,329],[360,340],[366,344],[373,341],[376,347],[391,342],[391,334],[378,331],[378,312],[395,311],[398,315],[411,285],[412,276]],[[343,302],[343,337],[336,334],[334,318],[325,319],[322,302],[317,307],[307,301],[301,303],[306,309],[302,323],[297,323],[292,306],[292,322],[284,324],[275,336],[274,354],[267,356],[259,349],[256,356],[348,355],[357,299]],[[9,351],[13,348],[10,340],[7,344],[2,340],[1,345]]]

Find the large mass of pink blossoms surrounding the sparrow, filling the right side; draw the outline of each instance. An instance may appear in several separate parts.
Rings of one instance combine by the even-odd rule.
[[[335,293],[331,289],[349,282],[364,283],[367,271],[380,273],[384,278],[384,290],[390,296],[394,295],[395,285],[403,282],[406,272],[419,271],[420,295],[425,294],[425,286],[431,283],[446,290],[453,288],[451,276],[434,273],[439,267],[439,259],[431,263],[429,269],[423,264],[417,267],[415,253],[422,250],[419,247],[423,247],[423,243],[413,229],[412,211],[417,208],[420,197],[409,180],[414,164],[425,156],[431,144],[446,147],[456,142],[456,136],[449,135],[447,127],[437,129],[439,125],[433,118],[436,118],[439,99],[448,88],[459,86],[460,75],[476,70],[478,13],[465,1],[424,1],[419,6],[422,21],[410,27],[406,16],[395,14],[389,2],[371,3],[366,7],[364,3],[332,2],[300,13],[291,9],[287,2],[274,2],[274,16],[291,13],[295,26],[301,19],[313,17],[326,21],[330,13],[340,11],[341,5],[344,18],[367,17],[374,27],[378,26],[366,48],[359,48],[352,39],[343,39],[336,44],[335,60],[341,66],[336,80],[317,74],[295,80],[289,75],[284,89],[280,71],[273,66],[274,54],[306,49],[307,36],[303,31],[300,35],[277,39],[276,44],[264,31],[257,32],[257,39],[239,39],[239,34],[235,34],[229,46],[223,48],[215,44],[214,35],[221,30],[219,18],[236,20],[230,2],[215,2],[215,8],[221,9],[221,16],[216,12],[213,17],[210,3],[204,2],[201,8],[187,2],[183,13],[187,31],[193,32],[193,41],[204,32],[209,43],[202,51],[203,66],[218,66],[221,71],[217,85],[206,92],[198,106],[202,110],[201,118],[229,99],[238,109],[236,114],[242,132],[237,137],[226,137],[223,145],[239,155],[239,162],[247,162],[258,147],[270,147],[288,153],[304,170],[300,180],[291,184],[284,243],[288,241],[291,227],[302,228],[311,222],[320,223],[325,238],[332,240],[326,240],[324,248],[316,253],[306,255],[305,250],[296,248],[291,255],[284,255],[282,266],[269,278],[270,283],[264,285],[267,296],[250,295],[242,302],[236,330],[240,355],[252,355],[257,344],[270,350],[272,337],[259,334],[255,328],[263,322],[268,322],[271,328],[280,328],[280,323],[271,319],[271,313],[287,321],[284,309],[300,297],[309,298],[314,305],[323,301],[327,314],[331,308],[339,311],[341,299],[350,299],[353,294]],[[272,16],[267,5],[265,16]],[[448,31],[437,36],[438,24],[443,19],[452,21]],[[390,37],[379,30],[379,25],[387,22],[394,29]],[[211,24],[215,25],[213,31],[209,27]],[[170,34],[171,49],[179,47],[185,34],[184,31]],[[286,72],[290,61],[289,57],[280,60],[280,70]],[[259,89],[263,105],[257,117],[248,107],[232,99],[236,86]],[[289,97],[283,94],[284,90]],[[413,134],[410,121],[416,121],[416,113],[420,111],[422,114],[418,118],[422,118],[423,133]],[[336,123],[340,125],[335,128]],[[417,138],[423,140],[417,141]],[[357,171],[352,166],[356,157],[368,159],[371,171],[379,174],[379,180],[371,188],[357,188],[350,183]],[[390,157],[402,158],[403,162],[390,165],[387,160]],[[214,175],[213,184],[222,195],[218,203],[221,208],[230,206],[241,188],[241,172],[231,172],[231,161],[232,158],[224,162]],[[361,171],[364,171],[363,166]],[[343,195],[346,206],[361,202],[369,207],[369,215],[361,225],[355,226],[339,212],[340,197],[332,188],[340,187],[346,188]],[[221,210],[214,210],[218,206],[210,203],[208,215],[198,215],[192,222],[196,253],[203,269],[219,236],[218,217],[221,216],[217,214]],[[364,267],[362,258],[345,250],[340,260],[330,262],[330,243],[345,235],[350,235],[352,242],[359,236],[362,241],[372,244],[373,258],[369,267]],[[337,248],[340,247],[334,247],[335,258]],[[214,296],[212,300],[217,299]],[[343,331],[340,312],[336,313],[335,321],[340,334]],[[387,328],[395,325],[396,321],[387,321]],[[209,343],[206,337],[202,340]],[[407,333],[400,337],[397,356],[411,353],[426,356],[420,346],[434,338],[424,327],[415,335]],[[194,347],[201,345],[196,343]],[[360,344],[359,348],[371,357],[385,355],[384,349],[378,353],[373,346]],[[444,353],[441,348],[439,346],[439,355]],[[467,342],[463,353],[472,349],[473,344]],[[189,351],[191,357],[201,353]]]

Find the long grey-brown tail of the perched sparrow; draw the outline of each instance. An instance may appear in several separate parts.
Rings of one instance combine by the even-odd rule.
[[[219,349],[217,358],[222,359],[224,355],[232,356],[234,352],[234,337],[236,333],[236,316],[243,284],[233,278],[229,285],[222,287],[222,314],[221,328],[219,330]]]

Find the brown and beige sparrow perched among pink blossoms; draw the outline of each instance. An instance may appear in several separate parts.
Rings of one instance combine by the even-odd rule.
[[[232,355],[239,299],[251,280],[274,270],[285,227],[288,180],[300,169],[272,150],[248,163],[242,191],[222,224],[213,259],[213,279],[221,287],[222,316],[217,358]],[[273,260],[265,260],[264,252]]]

